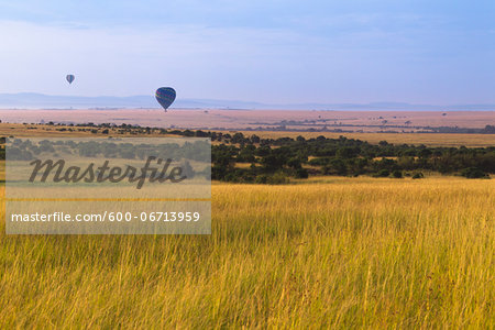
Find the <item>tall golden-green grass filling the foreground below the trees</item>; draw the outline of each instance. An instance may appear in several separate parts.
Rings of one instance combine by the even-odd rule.
[[[6,237],[1,222],[0,328],[493,328],[494,188],[218,184],[207,237]]]

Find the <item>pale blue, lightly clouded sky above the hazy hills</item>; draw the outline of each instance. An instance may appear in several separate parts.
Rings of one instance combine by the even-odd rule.
[[[495,1],[0,0],[0,94],[495,103]]]

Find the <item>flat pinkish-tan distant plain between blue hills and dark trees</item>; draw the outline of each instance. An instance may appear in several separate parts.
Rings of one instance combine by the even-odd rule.
[[[351,132],[414,132],[425,127],[484,128],[495,125],[495,111],[299,111],[299,110],[0,110],[0,120],[11,123],[127,123],[142,127]]]

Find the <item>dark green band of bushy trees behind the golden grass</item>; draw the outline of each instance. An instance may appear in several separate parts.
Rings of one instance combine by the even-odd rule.
[[[290,177],[308,178],[310,175],[421,178],[429,172],[490,178],[495,174],[495,146],[431,147],[386,141],[371,144],[345,136],[262,139],[241,132],[166,130],[129,124],[91,127],[95,130],[117,129],[117,132],[132,135],[210,138],[213,142],[211,177],[224,182],[277,184]]]

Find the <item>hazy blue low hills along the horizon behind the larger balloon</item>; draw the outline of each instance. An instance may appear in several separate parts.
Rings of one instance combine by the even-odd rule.
[[[0,108],[23,109],[69,109],[69,108],[160,108],[154,96],[130,97],[77,97],[77,96],[48,96],[34,92],[0,94]],[[410,105],[399,102],[374,103],[296,103],[268,105],[251,101],[213,100],[213,99],[177,99],[172,108],[190,109],[286,109],[286,110],[391,110],[391,111],[461,111],[461,110],[491,110],[495,105],[453,105],[430,106]]]

